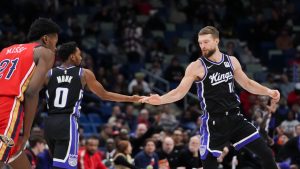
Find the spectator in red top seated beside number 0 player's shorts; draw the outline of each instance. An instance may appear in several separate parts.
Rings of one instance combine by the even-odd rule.
[[[99,139],[91,136],[87,139],[84,148],[78,152],[78,169],[106,169],[98,151]]]

